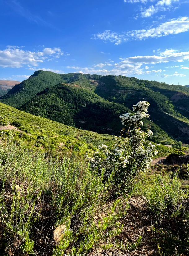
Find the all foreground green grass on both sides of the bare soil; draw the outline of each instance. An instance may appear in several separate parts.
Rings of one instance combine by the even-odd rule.
[[[124,194],[112,197],[114,189],[113,177],[105,182],[103,172],[91,171],[86,162],[71,156],[71,151],[70,157],[44,158],[19,141],[15,144],[12,137],[2,138],[1,255],[63,256],[97,249],[127,253],[140,248],[141,236],[126,244],[119,240],[129,204]],[[152,229],[160,253],[186,254],[189,214],[182,205],[188,193],[181,189],[177,176],[171,180],[159,175],[152,182],[140,174],[126,192],[146,197],[148,212],[156,220]],[[56,243],[52,231],[60,224],[66,224],[67,231]]]

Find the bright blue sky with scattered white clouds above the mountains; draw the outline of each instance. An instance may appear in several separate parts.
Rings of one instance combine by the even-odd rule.
[[[189,0],[0,0],[0,79],[38,69],[189,84]]]

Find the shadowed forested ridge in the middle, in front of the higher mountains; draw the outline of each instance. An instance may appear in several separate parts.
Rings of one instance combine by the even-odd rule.
[[[81,85],[58,84],[38,93],[21,107],[33,115],[46,117],[69,126],[98,133],[120,135],[122,129],[119,115],[131,112],[123,104],[105,101],[92,90]],[[150,121],[145,120],[148,129]],[[172,142],[172,139],[154,123],[152,140]]]

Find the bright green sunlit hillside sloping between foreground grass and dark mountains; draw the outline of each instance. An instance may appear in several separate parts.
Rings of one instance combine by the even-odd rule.
[[[15,132],[18,141],[23,141],[30,148],[38,148],[42,152],[70,151],[73,154],[83,155],[85,152],[97,151],[100,144],[108,145],[110,148],[115,143],[114,136],[98,134],[96,132],[77,129],[71,126],[34,116],[20,111],[16,108],[0,103],[0,113],[5,124],[16,126],[20,131]],[[120,122],[120,120],[119,120]],[[121,123],[121,122],[120,122]],[[8,136],[12,131],[3,130]],[[175,149],[160,145],[157,157],[167,156]]]

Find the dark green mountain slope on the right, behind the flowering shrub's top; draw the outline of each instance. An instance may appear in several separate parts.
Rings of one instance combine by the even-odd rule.
[[[131,108],[139,100],[149,101],[151,121],[169,136],[189,143],[189,108],[183,112],[177,108],[183,99],[189,103],[188,88],[124,76],[103,76],[98,84],[94,92],[110,102]],[[184,98],[179,96],[178,102],[174,101],[174,97],[179,94]]]

